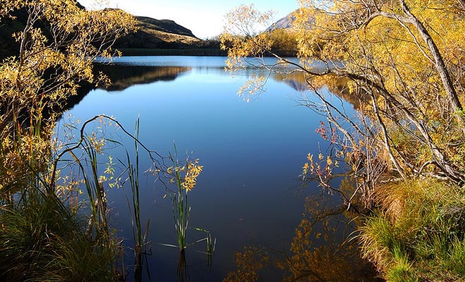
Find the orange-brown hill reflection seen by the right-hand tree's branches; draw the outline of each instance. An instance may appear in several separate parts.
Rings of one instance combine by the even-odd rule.
[[[309,84],[306,82],[304,73],[296,72],[288,75],[274,74],[273,79],[278,82],[284,82],[299,92],[309,90]],[[330,92],[352,104],[354,109],[359,109],[360,103],[364,101],[364,97],[358,97],[349,93],[347,78],[337,78],[336,76],[328,75],[328,79],[325,80],[325,87],[327,87]]]

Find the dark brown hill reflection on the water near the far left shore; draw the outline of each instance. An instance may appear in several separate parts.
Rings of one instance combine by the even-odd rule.
[[[111,80],[108,91],[122,91],[132,85],[148,84],[156,81],[171,81],[178,75],[190,71],[182,66],[125,66],[101,65],[95,66],[95,71],[105,73]]]

